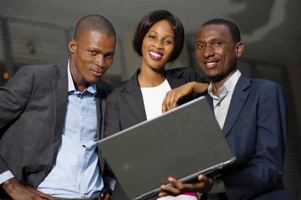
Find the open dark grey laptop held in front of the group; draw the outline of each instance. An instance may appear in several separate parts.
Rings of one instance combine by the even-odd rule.
[[[156,196],[169,176],[193,182],[236,162],[205,96],[101,139],[98,147],[133,200]]]

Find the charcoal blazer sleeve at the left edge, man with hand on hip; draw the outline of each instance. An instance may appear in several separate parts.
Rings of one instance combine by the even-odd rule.
[[[34,82],[34,74],[30,67],[21,67],[3,87],[0,87],[0,139],[6,125],[16,120],[24,111],[30,100]],[[0,173],[9,167],[0,156]]]

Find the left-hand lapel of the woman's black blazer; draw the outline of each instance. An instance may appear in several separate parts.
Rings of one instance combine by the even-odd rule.
[[[139,73],[140,69],[138,68],[134,75],[128,80],[127,84],[121,88],[121,91],[127,93],[124,95],[124,99],[136,116],[138,122],[142,122],[147,118],[144,108],[143,96],[138,82]]]

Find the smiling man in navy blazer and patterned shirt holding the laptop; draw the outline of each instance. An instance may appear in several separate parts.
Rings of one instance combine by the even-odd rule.
[[[199,175],[198,183],[169,178],[176,187],[162,185],[166,192],[161,196],[198,191],[205,193],[202,199],[290,199],[281,178],[286,141],[284,92],[274,82],[240,73],[237,58],[243,47],[237,25],[225,19],[206,22],[196,37],[196,56],[211,80],[209,104],[241,164],[220,177]]]

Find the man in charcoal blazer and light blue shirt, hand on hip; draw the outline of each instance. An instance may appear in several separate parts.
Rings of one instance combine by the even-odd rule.
[[[24,66],[0,87],[0,199],[110,198],[115,180],[96,143],[115,44],[110,21],[87,15],[66,62]]]

